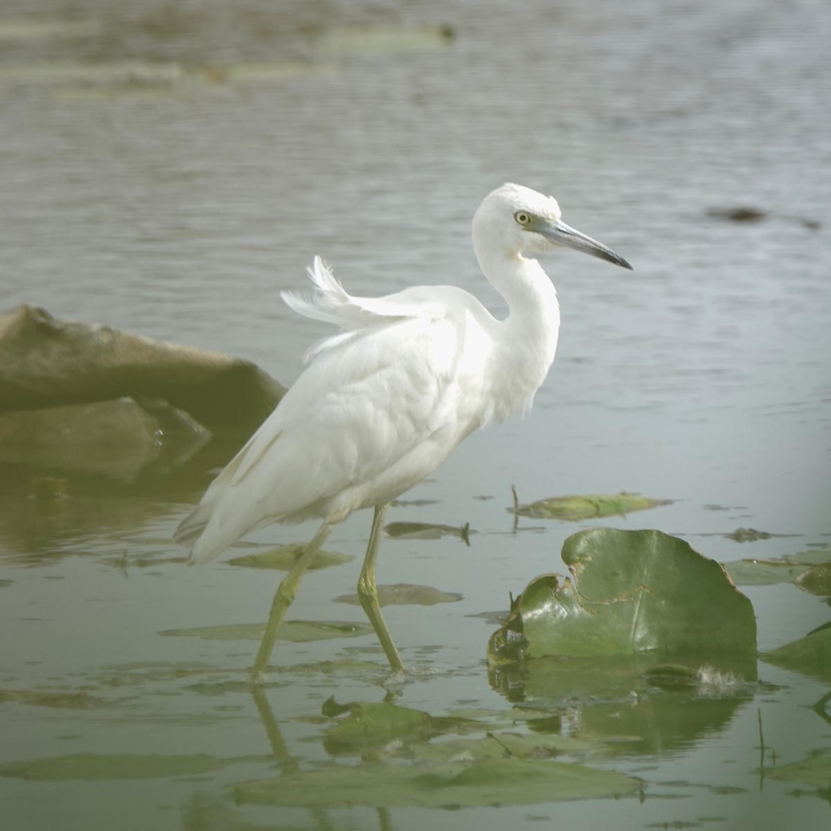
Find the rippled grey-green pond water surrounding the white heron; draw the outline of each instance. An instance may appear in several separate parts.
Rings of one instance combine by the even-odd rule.
[[[826,827],[831,723],[815,705],[828,672],[760,663],[758,681],[663,693],[563,689],[538,672],[505,691],[484,663],[498,624],[483,614],[562,570],[563,539],[592,525],[656,527],[720,561],[829,542],[828,37],[813,0],[4,4],[3,311],[28,302],[231,352],[288,384],[325,330],[278,291],[302,286],[315,253],[356,293],[452,282],[498,310],[469,226],[505,179],[555,194],[569,224],[636,269],[548,258],[563,332],[533,415],[471,437],[391,511],[471,531],[470,547],[382,543],[381,583],[463,596],[386,607],[413,668],[394,689],[371,636],[279,642],[288,670],[255,694],[256,640],[171,634],[262,623],[278,583],[230,557],[186,568],[170,543],[221,452],[71,475],[54,501],[29,495],[33,474],[54,471],[4,468],[0,794],[13,826]],[[739,206],[765,215],[708,213]],[[523,502],[675,501],[514,529],[511,484]],[[335,598],[353,591],[369,522],[336,530],[327,548],[356,559],[309,573],[292,617],[362,622]],[[774,536],[725,537],[740,527]],[[265,529],[232,556],[312,533]],[[829,619],[789,583],[745,591],[760,650]],[[475,724],[344,747],[332,730],[345,716],[322,715],[330,697]],[[501,769],[467,797],[383,778],[451,741],[470,742],[452,764],[479,759],[488,732],[641,783],[555,802],[506,796]],[[785,767],[811,759],[814,779]],[[366,772],[347,782],[351,807],[327,801],[327,779],[272,804],[244,786],[335,765]]]

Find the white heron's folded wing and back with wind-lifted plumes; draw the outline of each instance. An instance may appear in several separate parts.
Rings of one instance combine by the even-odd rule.
[[[324,269],[319,260],[315,266]],[[430,287],[364,301],[335,283],[317,295],[314,313],[293,307],[337,317],[352,327],[349,337],[317,348],[180,525],[176,538],[194,542],[195,561],[275,520],[342,519],[387,502],[430,475],[486,418],[493,318],[474,297]]]

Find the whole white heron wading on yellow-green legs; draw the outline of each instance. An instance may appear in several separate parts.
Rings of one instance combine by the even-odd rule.
[[[392,499],[438,468],[479,427],[527,412],[554,360],[557,293],[523,253],[576,248],[632,268],[560,219],[555,199],[517,184],[485,197],[473,220],[484,276],[504,297],[497,320],[455,286],[352,297],[320,258],[310,297],[283,292],[295,312],[344,330],[313,346],[310,365],[175,532],[204,563],[243,534],[273,522],[322,519],[274,596],[253,674],[268,663],[297,586],[332,527],[374,508],[358,597],[393,671],[404,665],[375,583],[384,515]]]

